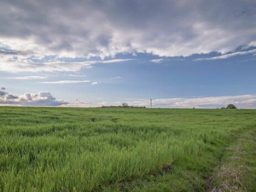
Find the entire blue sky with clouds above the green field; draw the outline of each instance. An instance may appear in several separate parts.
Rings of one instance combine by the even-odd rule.
[[[0,105],[256,108],[255,0],[0,0]]]

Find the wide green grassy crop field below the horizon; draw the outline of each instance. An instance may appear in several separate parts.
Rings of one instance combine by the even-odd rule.
[[[0,191],[255,191],[255,138],[256,110],[0,107]]]

